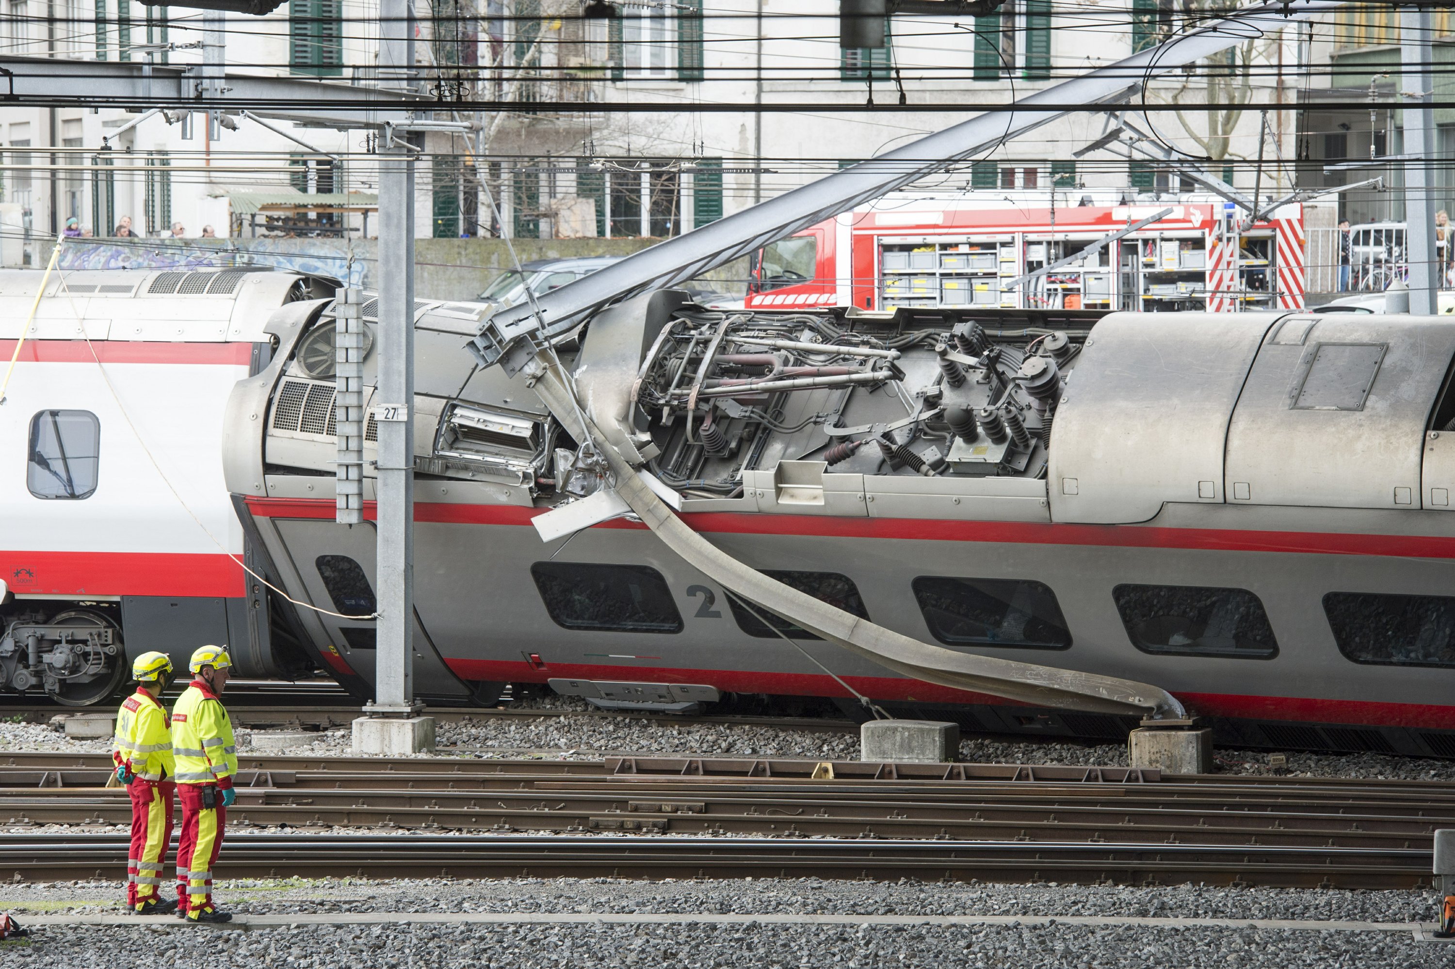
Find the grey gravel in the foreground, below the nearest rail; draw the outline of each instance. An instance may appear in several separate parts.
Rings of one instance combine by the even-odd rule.
[[[4,886],[0,908],[115,911],[86,904],[118,886]],[[895,915],[1151,915],[1411,921],[1427,892],[1302,889],[874,885],[815,879],[642,883],[615,879],[502,882],[224,882],[218,902],[276,912],[847,912]],[[77,905],[79,904],[79,905]],[[1455,947],[1410,931],[1299,931],[1167,925],[375,924],[249,930],[189,925],[38,928],[0,944],[7,969],[54,966],[1004,966],[1122,969],[1448,965]]]

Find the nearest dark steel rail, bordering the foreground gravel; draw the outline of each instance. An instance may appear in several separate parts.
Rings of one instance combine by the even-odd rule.
[[[0,835],[19,880],[121,877],[124,835]],[[1074,841],[230,834],[224,877],[805,877],[1414,888],[1432,851]]]

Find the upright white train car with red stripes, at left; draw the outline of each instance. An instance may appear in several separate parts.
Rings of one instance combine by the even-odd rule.
[[[0,406],[0,695],[97,703],[128,656],[160,649],[185,669],[204,643],[226,643],[246,677],[317,668],[239,565],[218,441],[233,384],[272,356],[268,319],[338,282],[61,272],[26,329],[41,279],[0,272],[0,367],[16,361]]]

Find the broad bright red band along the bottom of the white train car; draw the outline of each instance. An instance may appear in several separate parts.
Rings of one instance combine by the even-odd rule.
[[[0,550],[0,579],[16,595],[247,594],[243,567],[224,554]]]

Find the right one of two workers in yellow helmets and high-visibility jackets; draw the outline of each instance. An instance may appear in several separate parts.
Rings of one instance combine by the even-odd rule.
[[[212,864],[223,847],[227,809],[237,793],[237,746],[233,723],[220,695],[233,661],[220,646],[192,653],[192,684],[172,707],[172,752],[182,797],[182,837],[178,841],[178,918],[227,922],[233,917],[212,905]]]

